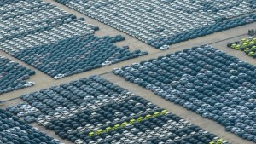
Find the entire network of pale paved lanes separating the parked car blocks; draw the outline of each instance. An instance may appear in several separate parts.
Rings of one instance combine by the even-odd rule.
[[[55,3],[52,0],[45,0],[45,1]],[[160,51],[158,49],[154,49],[153,47],[147,45],[146,43],[142,43],[142,42],[138,41],[137,39],[126,35],[123,32],[114,30],[112,27],[103,25],[102,23],[99,23],[96,20],[92,20],[92,19],[84,16],[84,14],[79,14],[79,12],[76,12],[73,9],[68,9],[67,7],[65,7],[59,3],[55,3],[55,5],[60,7],[61,9],[66,10],[69,13],[76,14],[78,17],[85,17],[86,22],[93,24],[95,26],[99,26],[100,31],[96,32],[96,36],[101,37],[106,34],[108,34],[110,36],[114,36],[117,34],[121,34],[121,35],[125,36],[126,39],[125,39],[125,41],[118,43],[119,46],[129,44],[131,50],[135,50],[135,49],[147,50],[148,55],[143,56],[143,57],[138,57],[133,60],[127,60],[124,62],[120,62],[120,63],[112,65],[112,66],[102,67],[102,68],[95,69],[95,70],[92,70],[89,72],[79,73],[79,74],[76,74],[76,75],[73,75],[73,76],[70,76],[67,78],[62,78],[60,80],[54,80],[53,78],[50,78],[48,75],[44,74],[43,72],[39,72],[37,69],[33,68],[32,66],[28,66],[24,62],[21,62],[20,60],[17,60],[15,58],[5,54],[3,51],[0,51],[0,55],[4,55],[4,56],[8,57],[10,60],[14,60],[15,62],[20,63],[20,65],[26,66],[27,68],[31,68],[32,70],[36,71],[36,75],[34,75],[34,76],[32,76],[32,78],[30,78],[30,81],[34,81],[36,83],[36,85],[33,87],[30,87],[30,88],[20,89],[20,90],[16,90],[16,91],[13,91],[13,92],[10,92],[7,94],[0,95],[0,100],[6,101],[5,103],[3,103],[3,106],[0,106],[0,107],[7,107],[8,105],[15,105],[15,104],[21,102],[21,100],[18,97],[22,94],[27,94],[27,93],[30,93],[33,91],[38,91],[40,89],[49,88],[50,86],[53,86],[53,85],[67,83],[72,80],[77,80],[79,78],[89,77],[90,75],[93,75],[93,74],[99,74],[99,75],[102,75],[103,78],[107,78],[108,80],[113,82],[113,84],[118,84],[119,86],[122,86],[125,89],[128,89],[137,95],[143,96],[143,98],[147,99],[148,101],[152,101],[154,104],[157,104],[160,107],[164,107],[167,110],[181,116],[182,118],[188,119],[192,123],[201,126],[205,130],[211,131],[212,133],[224,138],[227,141],[230,141],[231,143],[234,143],[234,144],[253,143],[253,142],[249,142],[249,141],[244,141],[241,138],[237,137],[236,135],[225,132],[224,127],[222,127],[221,125],[219,125],[211,120],[201,118],[201,116],[195,114],[194,112],[189,112],[186,109],[184,109],[183,107],[179,107],[175,104],[170,103],[169,101],[165,101],[164,99],[161,99],[159,96],[154,95],[152,92],[138,87],[136,84],[131,84],[131,83],[125,82],[125,80],[123,78],[114,76],[113,73],[111,73],[111,71],[115,67],[128,66],[128,65],[131,65],[131,63],[133,63],[133,62],[148,60],[150,58],[155,58],[159,55],[166,55],[168,53],[173,53],[177,50],[182,50],[185,48],[191,48],[192,46],[199,45],[202,43],[212,43],[212,45],[216,49],[221,49],[230,55],[239,57],[241,60],[245,60],[248,63],[251,63],[254,66],[256,66],[255,59],[248,57],[246,54],[244,54],[241,51],[236,51],[234,49],[228,49],[226,47],[226,43],[232,43],[236,40],[241,39],[241,37],[246,37],[245,34],[247,32],[247,29],[256,27],[255,23],[247,25],[247,26],[240,26],[237,28],[233,28],[233,29],[230,29],[230,30],[227,30],[224,32],[214,33],[214,34],[206,36],[206,37],[199,37],[199,38],[196,38],[193,40],[189,40],[187,42],[177,43],[177,44],[172,45],[171,49],[168,49],[166,51]],[[241,36],[241,35],[243,35],[243,36]],[[16,98],[18,98],[18,99],[16,99]],[[15,99],[15,100],[9,101],[11,99]],[[38,127],[40,130],[47,132],[49,135],[57,138],[57,136],[54,134],[53,131],[45,130],[43,127],[38,126],[38,124],[33,124],[33,125]],[[61,140],[61,138],[59,138],[59,140]],[[65,142],[67,144],[71,143],[69,141],[63,141],[63,142]]]

